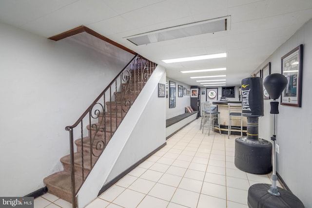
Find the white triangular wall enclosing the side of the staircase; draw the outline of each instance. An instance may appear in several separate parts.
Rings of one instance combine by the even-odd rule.
[[[158,83],[165,81],[165,69],[157,66],[79,190],[79,208],[94,200],[103,185],[165,144],[166,101],[158,97]]]

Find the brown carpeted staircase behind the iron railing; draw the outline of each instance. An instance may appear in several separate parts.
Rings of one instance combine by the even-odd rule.
[[[142,64],[141,62],[137,62],[134,65]],[[128,69],[131,73],[128,72],[128,77],[125,78],[125,81],[123,83],[121,81],[119,86],[116,84],[116,86],[113,87],[113,92],[108,93],[110,94],[110,101],[105,101],[104,96],[104,102],[103,100],[102,102],[105,103],[105,105],[102,104],[102,109],[105,111],[96,111],[97,120],[92,122],[91,125],[90,123],[84,125],[84,127],[82,127],[81,124],[81,132],[83,129],[86,129],[86,131],[88,131],[88,136],[81,136],[74,142],[77,147],[77,152],[74,153],[76,192],[92,170],[99,155],[105,149],[122,119],[126,116],[132,103],[150,77],[151,72],[153,72],[151,70],[147,74],[142,74],[141,67],[134,66],[133,68],[136,70]],[[117,88],[119,88],[119,90],[117,90]],[[91,118],[94,118],[94,116],[90,117],[89,120],[91,120]],[[83,133],[81,133],[81,135],[83,135]],[[49,193],[72,203],[70,158],[70,154],[62,157],[60,162],[64,170],[44,178],[43,182]]]

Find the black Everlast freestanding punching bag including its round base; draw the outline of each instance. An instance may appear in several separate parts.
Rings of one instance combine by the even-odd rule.
[[[254,174],[272,170],[272,144],[259,139],[258,118],[263,111],[263,84],[261,77],[242,79],[242,115],[247,117],[247,137],[235,139],[234,164],[236,168]]]

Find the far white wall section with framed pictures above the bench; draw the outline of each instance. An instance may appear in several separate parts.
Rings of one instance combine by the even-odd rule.
[[[176,82],[176,108],[169,108],[169,81],[174,81]],[[184,84],[182,82],[179,82],[175,79],[167,77],[167,82],[168,82],[168,98],[166,98],[166,119],[175,117],[176,115],[180,115],[182,113],[185,113],[185,107],[191,106],[191,96],[188,95],[183,95],[183,97],[178,97],[178,85],[182,85],[183,87],[186,87],[186,89],[191,89],[190,85]]]

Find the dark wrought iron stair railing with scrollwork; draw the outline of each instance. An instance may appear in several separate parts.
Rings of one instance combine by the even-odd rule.
[[[155,68],[156,63],[139,55],[135,56],[76,123],[65,128],[70,137],[73,208],[77,207],[78,190]],[[74,138],[79,139],[74,142]],[[74,152],[74,143],[77,152]],[[77,166],[77,163],[80,165]],[[80,181],[81,178],[82,183],[78,188],[75,187],[76,180]]]

